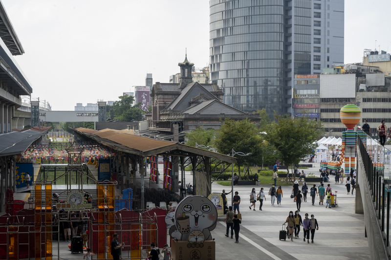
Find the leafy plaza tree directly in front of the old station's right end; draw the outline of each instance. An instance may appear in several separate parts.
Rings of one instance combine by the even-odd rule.
[[[258,133],[259,129],[248,119],[240,121],[227,119],[217,130],[214,146],[218,152],[232,155],[234,149],[235,152],[252,153],[250,156],[236,156],[239,179],[241,179],[240,166],[257,164],[262,159],[261,136]]]

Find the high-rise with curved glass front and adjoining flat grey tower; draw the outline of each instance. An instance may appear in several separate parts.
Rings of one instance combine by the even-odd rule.
[[[210,80],[245,112],[292,113],[294,75],[344,63],[344,0],[210,0]]]

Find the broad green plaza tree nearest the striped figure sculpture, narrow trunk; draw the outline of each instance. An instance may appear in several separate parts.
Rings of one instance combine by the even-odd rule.
[[[324,133],[322,122],[307,117],[292,119],[288,115],[275,115],[276,122],[272,122],[266,131],[266,140],[280,153],[282,162],[294,167],[295,162],[314,152],[318,140]],[[288,178],[286,178],[288,183]]]

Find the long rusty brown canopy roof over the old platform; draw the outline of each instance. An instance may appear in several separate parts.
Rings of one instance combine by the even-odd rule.
[[[128,152],[143,157],[162,154],[164,152],[178,151],[216,158],[228,163],[236,163],[235,157],[217,152],[210,152],[207,150],[171,141],[156,140],[148,137],[120,133],[110,130],[107,130],[105,132],[86,128],[78,128],[74,130],[117,151]]]

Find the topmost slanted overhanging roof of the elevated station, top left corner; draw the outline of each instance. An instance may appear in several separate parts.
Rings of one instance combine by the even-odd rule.
[[[22,43],[19,41],[11,21],[8,18],[4,5],[0,1],[0,37],[12,55],[22,55],[24,53]]]

